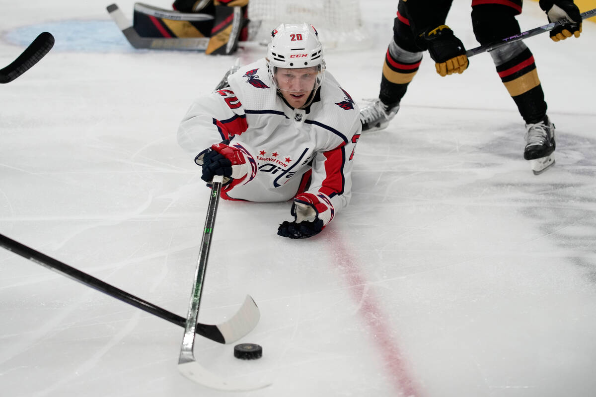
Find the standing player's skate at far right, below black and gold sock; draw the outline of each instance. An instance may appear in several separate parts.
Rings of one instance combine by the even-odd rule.
[[[526,149],[523,157],[530,161],[535,175],[555,164],[555,126],[548,116],[536,124],[526,124]]]

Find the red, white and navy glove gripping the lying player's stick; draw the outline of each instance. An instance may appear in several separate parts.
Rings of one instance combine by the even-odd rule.
[[[228,141],[225,141],[228,142]],[[231,179],[244,179],[250,172],[250,164],[243,152],[226,143],[216,143],[200,152],[194,161],[203,167],[201,179],[211,182],[214,175],[224,176],[224,185]]]

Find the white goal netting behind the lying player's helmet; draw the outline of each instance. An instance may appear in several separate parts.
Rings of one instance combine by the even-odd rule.
[[[268,42],[281,23],[315,27],[325,49],[354,49],[370,44],[360,0],[249,0],[249,40]]]

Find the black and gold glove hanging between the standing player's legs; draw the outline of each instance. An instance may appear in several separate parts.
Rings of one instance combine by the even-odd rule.
[[[464,44],[447,25],[427,29],[420,35],[429,48],[430,57],[433,58],[437,73],[441,76],[463,73],[468,68],[468,57],[465,55]]]

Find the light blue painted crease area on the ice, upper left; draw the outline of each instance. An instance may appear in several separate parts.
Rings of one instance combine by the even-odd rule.
[[[52,52],[134,52],[111,20],[63,20],[16,27],[2,35],[5,42],[26,47],[40,32],[49,32],[56,41]],[[144,51],[144,50],[140,50]]]

